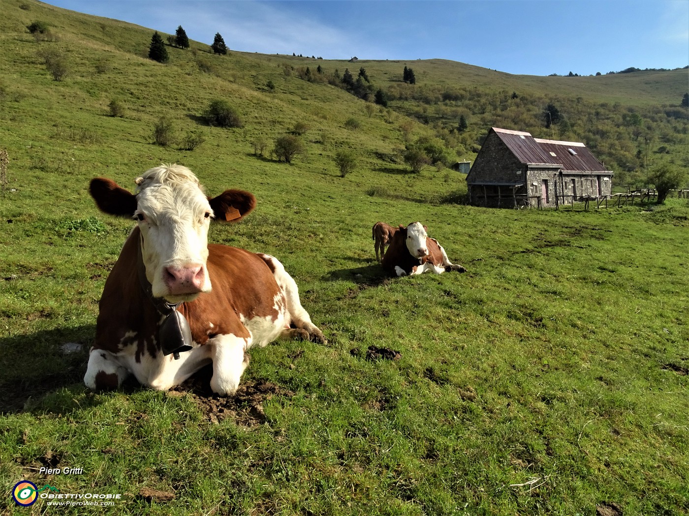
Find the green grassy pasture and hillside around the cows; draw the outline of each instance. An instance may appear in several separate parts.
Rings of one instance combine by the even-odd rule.
[[[10,491],[24,479],[121,494],[92,509],[125,515],[689,512],[687,200],[590,211],[444,203],[466,191],[463,175],[413,174],[395,158],[400,125],[431,129],[403,106],[368,116],[341,89],[284,72],[313,60],[171,48],[172,63],[160,65],[141,57],[150,30],[31,0],[2,7],[1,514],[85,512],[46,499],[14,506]],[[25,30],[34,19],[52,21],[60,41],[34,41]],[[37,56],[47,46],[70,59],[61,82]],[[401,64],[366,66],[391,74]],[[462,67],[466,87],[506,76],[413,67],[438,84]],[[601,96],[635,89],[619,85],[631,75],[603,78]],[[571,78],[504,78],[551,79]],[[630,96],[631,106],[648,100]],[[109,116],[113,98],[124,117]],[[236,105],[242,129],[198,122],[214,98]],[[206,141],[194,151],[152,144],[162,115],[178,135],[201,129]],[[297,122],[310,127],[305,158],[254,155],[256,138],[272,142]],[[346,178],[332,162],[343,148],[359,162]],[[276,255],[328,345],[251,350],[227,399],[209,394],[207,371],[170,392],[85,389],[97,303],[132,226],[96,210],[88,181],[132,188],[161,162],[189,166],[211,195],[256,195],[254,213],[212,226],[209,239]],[[468,272],[385,277],[371,240],[378,220],[423,221]],[[399,357],[373,360],[369,347]]]

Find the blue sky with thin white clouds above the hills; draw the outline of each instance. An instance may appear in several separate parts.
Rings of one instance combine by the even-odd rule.
[[[689,65],[689,0],[43,0],[231,50],[444,58],[509,74]]]

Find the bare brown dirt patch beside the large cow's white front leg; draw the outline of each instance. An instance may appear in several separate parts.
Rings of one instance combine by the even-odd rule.
[[[208,370],[209,369],[209,370]],[[239,384],[234,396],[222,398],[210,388],[212,368],[205,367],[189,380],[185,381],[168,396],[191,396],[196,407],[203,413],[205,420],[217,424],[225,419],[232,419],[243,427],[258,427],[266,420],[263,403],[276,396],[291,398],[294,392],[272,382],[247,380]]]

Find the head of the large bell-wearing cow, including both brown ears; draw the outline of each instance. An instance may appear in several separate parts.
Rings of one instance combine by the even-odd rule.
[[[154,297],[192,301],[211,290],[206,260],[212,219],[238,221],[256,206],[254,195],[226,190],[206,197],[185,166],[161,165],[136,178],[134,195],[116,182],[95,178],[91,196],[105,213],[132,217],[141,230],[141,254]]]

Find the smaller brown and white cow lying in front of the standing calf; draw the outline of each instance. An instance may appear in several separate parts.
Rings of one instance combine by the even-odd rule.
[[[412,222],[406,228],[400,224],[383,257],[382,266],[395,276],[422,274],[426,271],[435,274],[451,270],[466,272],[464,267],[454,265],[447,259],[438,240],[430,238],[426,233],[426,226],[420,222]]]

